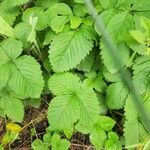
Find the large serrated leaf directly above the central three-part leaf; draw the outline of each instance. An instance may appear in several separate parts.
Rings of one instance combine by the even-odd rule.
[[[55,72],[74,68],[92,50],[93,42],[89,40],[89,31],[66,31],[58,34],[51,43],[49,59]]]

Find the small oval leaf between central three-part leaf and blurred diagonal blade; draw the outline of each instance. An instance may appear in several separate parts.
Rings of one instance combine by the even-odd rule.
[[[111,109],[123,108],[128,91],[121,82],[112,83],[106,91],[106,104]]]

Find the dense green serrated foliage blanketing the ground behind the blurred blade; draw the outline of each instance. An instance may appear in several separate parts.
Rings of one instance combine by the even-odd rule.
[[[150,1],[92,3],[150,113]],[[71,149],[77,132],[89,138],[87,149],[150,149],[143,118],[84,0],[1,0],[0,34],[0,116],[6,119],[0,150],[11,149],[33,123],[23,126],[26,108],[43,101],[48,125],[32,140],[34,150]]]

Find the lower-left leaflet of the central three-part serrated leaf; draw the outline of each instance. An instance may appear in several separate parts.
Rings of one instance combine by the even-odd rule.
[[[48,109],[48,120],[54,129],[66,129],[79,118],[79,104],[73,95],[55,97]]]

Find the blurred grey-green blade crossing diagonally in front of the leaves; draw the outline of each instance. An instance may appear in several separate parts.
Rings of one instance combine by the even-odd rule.
[[[122,59],[121,59],[120,55],[117,53],[116,48],[113,44],[113,41],[109,37],[109,35],[106,31],[104,22],[98,16],[97,11],[93,7],[91,0],[85,0],[85,2],[86,2],[89,13],[91,14],[91,16],[93,17],[93,19],[95,20],[95,22],[97,24],[99,32],[101,32],[101,34],[102,34],[103,42],[107,47],[107,51],[108,51],[109,55],[112,57],[113,63],[119,70],[120,78],[124,82],[128,91],[130,91],[135,108],[141,114],[141,116],[143,118],[144,127],[150,133],[150,118],[149,118],[148,114],[146,113],[146,111],[144,110],[144,107],[140,100],[140,96],[137,94],[137,92],[135,90],[130,73],[127,69],[124,69]]]

